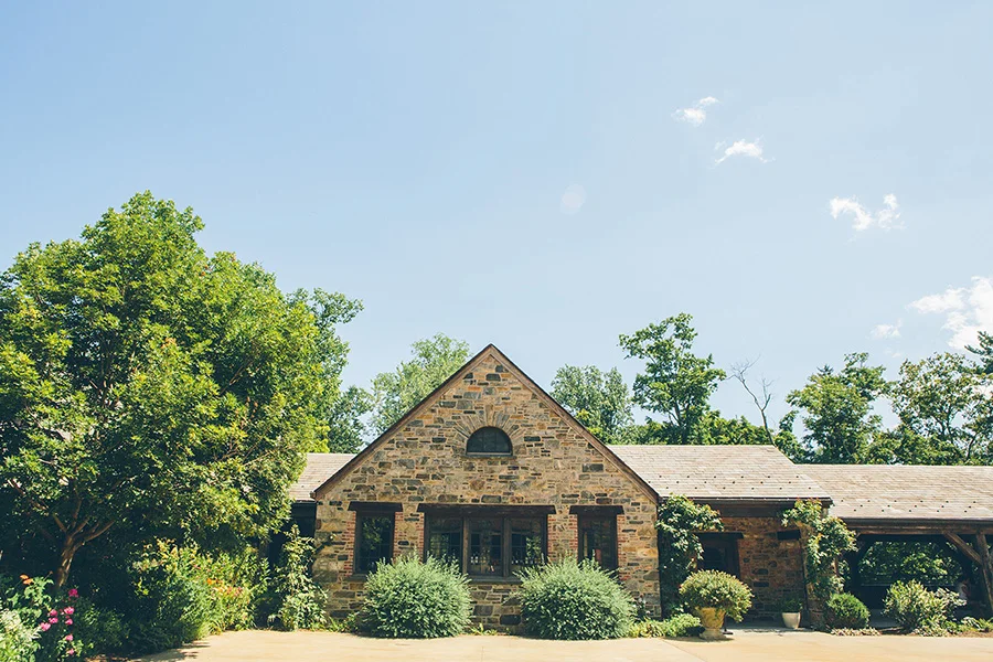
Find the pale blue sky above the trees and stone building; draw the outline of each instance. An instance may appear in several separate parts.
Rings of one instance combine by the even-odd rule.
[[[745,4],[2,2],[0,266],[149,189],[362,299],[349,382],[438,331],[632,378],[686,311],[777,415],[993,329],[993,3]]]

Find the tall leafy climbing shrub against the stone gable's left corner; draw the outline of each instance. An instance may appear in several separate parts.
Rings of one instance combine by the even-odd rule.
[[[324,594],[310,576],[314,551],[313,538],[301,536],[293,525],[282,545],[268,597],[273,609],[269,620],[286,630],[313,630],[329,624]]]

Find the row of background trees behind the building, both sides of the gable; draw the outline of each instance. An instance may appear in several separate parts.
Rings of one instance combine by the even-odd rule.
[[[606,444],[772,444],[798,462],[989,465],[993,462],[993,338],[980,333],[969,355],[939,352],[905,361],[895,380],[866,353],[825,365],[786,395],[789,412],[770,420],[771,383],[754,381],[752,363],[720,369],[698,354],[686,313],[621,334],[641,370],[629,386],[616,367],[564,365],[552,396]],[[414,344],[414,357],[375,377],[363,403],[382,433],[469,357],[444,334]],[[758,423],[726,418],[711,404],[725,380],[754,403]],[[897,420],[883,424],[888,405]],[[647,412],[636,423],[634,407]],[[359,423],[361,425],[361,421]]]

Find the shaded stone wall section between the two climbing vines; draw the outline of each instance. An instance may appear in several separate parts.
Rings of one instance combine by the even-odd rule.
[[[779,516],[722,517],[725,531],[744,534],[738,540],[740,578],[755,594],[747,620],[779,620],[783,598],[805,595],[800,540],[779,540],[787,531]]]

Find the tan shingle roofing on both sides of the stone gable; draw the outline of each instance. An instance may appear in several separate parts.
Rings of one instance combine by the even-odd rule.
[[[793,465],[772,446],[610,446],[660,495],[698,501],[831,499],[845,521],[993,520],[993,467]],[[354,456],[307,453],[290,487],[310,493]]]

